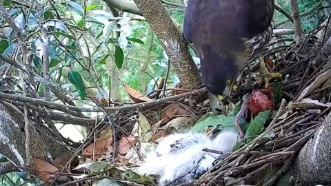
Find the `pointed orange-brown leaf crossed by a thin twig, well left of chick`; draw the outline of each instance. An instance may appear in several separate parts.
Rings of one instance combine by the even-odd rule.
[[[103,154],[105,154],[108,151],[109,146],[111,146],[111,145],[112,145],[112,138],[106,138],[101,141],[96,141],[95,149],[94,149],[95,158],[99,158]],[[93,143],[88,145],[88,147],[86,147],[83,150],[83,156],[88,156],[89,158],[93,157]]]

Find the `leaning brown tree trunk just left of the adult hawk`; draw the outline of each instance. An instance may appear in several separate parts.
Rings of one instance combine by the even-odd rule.
[[[134,0],[143,17],[150,23],[154,34],[160,39],[170,64],[181,80],[183,88],[192,89],[201,83],[197,65],[194,64],[188,45],[182,34],[168,16],[161,1]]]

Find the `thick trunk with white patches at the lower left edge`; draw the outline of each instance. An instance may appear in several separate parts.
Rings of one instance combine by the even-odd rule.
[[[47,160],[48,152],[55,158],[68,153],[63,143],[56,141],[47,130],[37,130],[30,122],[30,152],[32,158]],[[23,113],[3,101],[0,102],[0,154],[10,163],[0,163],[0,174],[10,172],[14,166],[26,163]]]

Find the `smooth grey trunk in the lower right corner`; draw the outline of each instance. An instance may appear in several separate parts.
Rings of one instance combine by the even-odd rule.
[[[331,112],[294,161],[295,185],[331,185]]]

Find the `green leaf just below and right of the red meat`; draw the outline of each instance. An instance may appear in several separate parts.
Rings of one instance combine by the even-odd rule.
[[[247,138],[247,142],[252,141],[254,137],[260,134],[263,130],[265,123],[267,123],[270,118],[271,110],[265,110],[260,112],[255,118],[250,122],[250,126],[246,130],[245,138]]]

